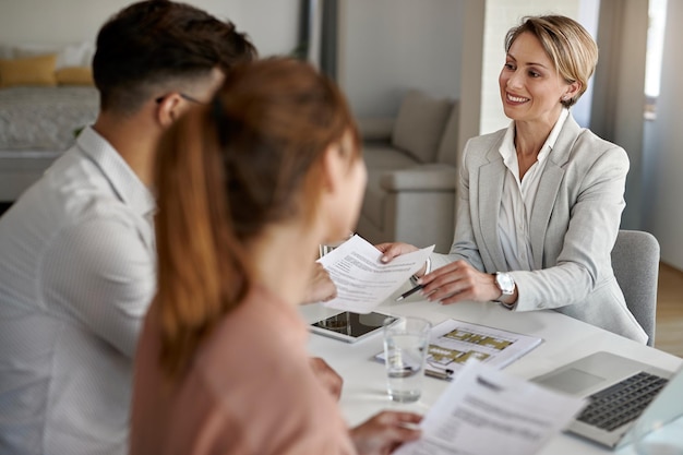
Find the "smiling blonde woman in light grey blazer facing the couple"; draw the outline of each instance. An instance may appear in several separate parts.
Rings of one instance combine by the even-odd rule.
[[[647,340],[610,256],[628,157],[579,128],[570,110],[597,61],[595,40],[570,17],[525,17],[507,33],[499,85],[512,122],[465,146],[454,243],[450,254],[432,258],[434,271],[421,280],[429,300],[554,309]],[[379,248],[385,261],[415,250]]]

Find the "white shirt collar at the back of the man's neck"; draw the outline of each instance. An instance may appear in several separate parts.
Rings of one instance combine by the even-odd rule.
[[[86,127],[76,144],[107,178],[119,200],[141,215],[154,213],[154,195],[106,139],[92,127]]]

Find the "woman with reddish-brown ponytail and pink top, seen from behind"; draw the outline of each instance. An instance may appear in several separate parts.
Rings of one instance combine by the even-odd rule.
[[[388,454],[419,438],[410,412],[346,428],[297,311],[366,179],[343,95],[295,60],[237,68],[167,132],[131,454]]]

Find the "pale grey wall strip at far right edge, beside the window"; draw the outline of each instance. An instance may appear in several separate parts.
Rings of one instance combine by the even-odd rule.
[[[662,261],[683,270],[683,2],[669,0],[657,119],[646,124],[644,225],[661,246]]]

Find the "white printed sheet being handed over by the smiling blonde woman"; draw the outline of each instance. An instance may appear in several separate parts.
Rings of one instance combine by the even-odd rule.
[[[371,312],[422,268],[433,250],[434,246],[423,248],[384,264],[380,250],[360,236],[351,237],[317,261],[337,287],[337,297],[324,306],[362,314]]]

